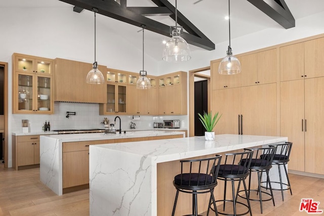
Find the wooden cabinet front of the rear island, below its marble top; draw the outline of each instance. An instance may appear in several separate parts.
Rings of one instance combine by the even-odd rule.
[[[63,193],[89,187],[89,146],[96,144],[125,143],[146,140],[183,138],[183,135],[125,138],[63,143]]]

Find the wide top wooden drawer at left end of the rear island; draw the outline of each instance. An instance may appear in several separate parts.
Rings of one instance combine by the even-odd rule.
[[[62,143],[62,145],[63,145],[63,152],[71,152],[71,151],[89,150],[90,145],[109,144],[114,142],[115,142],[114,140],[94,140],[94,141],[81,141],[81,142],[67,142],[67,143]]]

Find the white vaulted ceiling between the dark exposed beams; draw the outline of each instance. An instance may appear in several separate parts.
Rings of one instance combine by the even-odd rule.
[[[175,0],[169,0],[175,5]],[[187,17],[201,32],[209,37],[214,44],[228,41],[228,20],[224,17],[228,14],[228,1],[226,0],[203,0],[197,4],[193,4],[197,0],[178,0],[178,10]],[[321,13],[324,11],[323,0],[286,0],[286,4],[290,8],[295,19],[300,19],[312,14]],[[155,7],[150,0],[128,0],[128,7]],[[0,8],[6,7],[69,7],[71,13],[73,6],[63,3],[59,0],[10,0],[1,1]],[[82,13],[89,14],[93,19],[93,12],[83,11]],[[165,23],[167,25],[175,25],[174,21],[169,17],[150,17],[151,19]],[[126,40],[130,41],[136,49],[142,50],[141,38],[142,32],[139,26],[133,26],[127,23],[122,23],[105,16],[97,16],[98,22],[104,23],[110,32],[120,34]],[[117,28],[116,28],[117,26]],[[283,28],[274,20],[269,18],[251,3],[246,0],[231,0],[231,38],[240,37],[242,35],[251,34],[267,28]],[[161,52],[163,44],[161,41],[168,37],[145,31],[145,53],[156,59],[161,60]],[[147,49],[147,48],[156,49]],[[191,52],[201,50],[201,48],[191,46]]]

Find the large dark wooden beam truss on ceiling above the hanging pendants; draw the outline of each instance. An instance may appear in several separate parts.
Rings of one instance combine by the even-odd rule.
[[[175,20],[175,7],[167,0],[152,0],[157,7],[126,7],[127,0],[120,0],[120,4],[114,0],[60,0],[61,2],[74,5],[77,8],[84,8],[92,11],[93,8],[98,8],[97,13],[111,17],[135,26],[144,24],[146,29],[170,37],[170,26],[149,19],[145,16],[170,16]],[[75,8],[74,7],[74,8]],[[185,16],[179,11],[178,23],[183,26],[187,32],[183,32],[182,37],[188,44],[206,49],[215,50],[215,44],[195,27]]]

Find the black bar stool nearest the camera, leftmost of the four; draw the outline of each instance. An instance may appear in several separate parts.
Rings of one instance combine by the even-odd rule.
[[[173,185],[177,189],[172,216],[175,214],[179,192],[192,194],[192,214],[198,215],[197,194],[211,193],[216,209],[214,188],[217,186],[217,175],[222,156],[212,158],[180,160],[181,174],[175,176]],[[208,215],[208,214],[207,214]],[[218,215],[216,213],[216,215]]]

